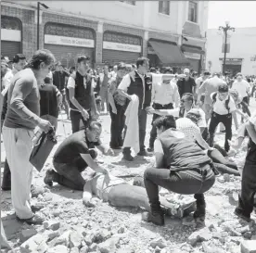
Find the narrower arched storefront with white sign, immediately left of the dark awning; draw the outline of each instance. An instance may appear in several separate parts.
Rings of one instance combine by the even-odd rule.
[[[109,65],[125,62],[133,64],[142,56],[142,39],[130,34],[104,32],[102,61]]]

